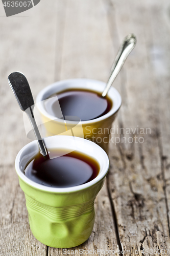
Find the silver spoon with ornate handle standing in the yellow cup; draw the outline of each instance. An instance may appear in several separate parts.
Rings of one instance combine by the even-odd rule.
[[[118,50],[117,56],[113,62],[113,65],[111,67],[111,75],[109,77],[109,80],[106,84],[106,87],[102,93],[102,96],[105,97],[108,93],[114,79],[118,75],[119,71],[122,69],[125,60],[127,59],[130,52],[133,50],[133,48],[136,45],[136,36],[134,34],[129,34],[125,37],[122,45],[120,45],[120,48]]]

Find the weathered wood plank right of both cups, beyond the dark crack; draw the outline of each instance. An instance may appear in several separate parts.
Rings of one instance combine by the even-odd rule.
[[[123,249],[135,251],[142,255],[142,249],[169,248],[169,227],[167,220],[166,195],[164,193],[164,177],[162,170],[162,152],[160,151],[159,131],[160,123],[166,123],[161,118],[157,72],[152,67],[152,37],[153,24],[164,26],[161,16],[161,4],[148,2],[142,4],[134,1],[112,1],[113,14],[116,10],[116,23],[118,34],[123,37],[128,33],[135,33],[137,46],[130,55],[124,67],[124,85],[121,83],[123,106],[118,118],[118,127],[123,129],[118,135],[128,139],[143,137],[144,142],[120,143],[112,146],[110,158],[112,168],[109,175],[109,185],[117,214],[119,237]],[[155,15],[157,10],[157,15]],[[163,15],[163,14],[162,14]],[[157,21],[158,19],[159,21]],[[151,22],[152,20],[152,22]],[[110,19],[111,22],[111,19]],[[110,25],[111,27],[111,25]],[[158,27],[157,27],[158,31]],[[160,30],[159,30],[160,31]],[[160,34],[157,36],[162,38]],[[159,46],[161,40],[159,41]],[[167,41],[166,41],[167,47]],[[165,46],[164,46],[165,47]],[[164,48],[165,49],[165,48]],[[160,70],[159,70],[160,71]],[[126,85],[126,93],[124,92]],[[167,113],[167,110],[166,110]],[[167,114],[166,114],[167,115]],[[146,128],[151,129],[146,134]],[[126,134],[126,129],[136,128],[133,134]],[[140,135],[137,128],[143,128]],[[148,130],[149,131],[149,130]],[[165,137],[166,134],[164,133]],[[162,134],[162,136],[164,136]],[[131,141],[131,140],[129,140]],[[142,140],[141,140],[142,141]],[[167,139],[163,144],[167,144]],[[158,253],[157,253],[158,254]]]

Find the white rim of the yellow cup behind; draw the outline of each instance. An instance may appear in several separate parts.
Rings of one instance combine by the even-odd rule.
[[[102,82],[99,80],[93,80],[93,79],[86,79],[86,78],[61,80],[61,81],[51,84],[50,86],[45,87],[43,90],[41,90],[38,93],[37,98],[36,98],[37,108],[40,111],[40,113],[43,114],[45,117],[47,117],[50,120],[55,121],[56,117],[52,116],[45,110],[43,100],[47,99],[54,93],[61,92],[63,90],[69,89],[69,88],[87,89],[87,90],[91,89],[96,92],[102,93],[104,91],[105,86],[106,86],[105,82]],[[94,122],[99,122],[104,119],[107,119],[108,117],[114,115],[119,110],[119,108],[122,104],[122,98],[121,98],[119,92],[114,87],[111,87],[108,92],[108,96],[113,102],[111,110],[101,117],[98,117],[98,118],[95,118],[92,120],[81,121],[82,125],[83,124],[84,125],[92,124]],[[58,118],[57,122],[63,122],[63,120]],[[74,123],[74,121],[67,120],[67,123],[68,124]]]

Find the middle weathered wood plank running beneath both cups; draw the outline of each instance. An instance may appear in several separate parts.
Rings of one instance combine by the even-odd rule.
[[[113,47],[102,1],[68,1],[62,52],[61,79],[92,78],[106,81],[113,61]],[[90,238],[79,249],[117,249],[106,184],[95,202],[96,218]],[[71,250],[71,249],[69,249]],[[87,253],[85,253],[87,254]],[[95,254],[95,253],[94,253]],[[64,255],[48,248],[48,256]]]

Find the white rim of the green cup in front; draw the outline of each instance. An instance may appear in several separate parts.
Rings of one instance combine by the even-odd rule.
[[[59,145],[59,144],[62,145],[62,146],[58,146],[55,148],[62,148],[62,147],[65,148],[65,146],[66,146],[66,149],[69,149],[69,148],[71,148],[72,142],[75,141],[75,139],[76,139],[76,150],[78,150],[79,152],[82,152],[86,155],[87,155],[87,152],[90,152],[91,155],[90,154],[88,154],[88,155],[92,156],[93,158],[98,160],[98,162],[100,164],[101,169],[100,169],[98,176],[96,178],[94,178],[93,180],[91,180],[90,182],[87,182],[85,184],[78,185],[78,186],[57,188],[57,187],[48,187],[48,186],[38,184],[38,183],[30,180],[28,177],[26,177],[25,174],[23,174],[22,170],[25,169],[27,163],[31,159],[33,159],[33,157],[39,151],[38,144],[37,144],[36,140],[34,140],[34,141],[28,143],[26,146],[22,147],[21,150],[19,151],[19,153],[17,154],[16,159],[15,159],[15,169],[16,169],[17,175],[23,182],[27,183],[31,187],[34,187],[38,190],[47,191],[49,193],[76,192],[79,190],[86,189],[86,188],[100,182],[102,179],[104,179],[104,177],[106,176],[108,169],[109,169],[109,158],[102,147],[100,147],[99,145],[97,145],[94,142],[91,142],[89,140],[85,140],[85,139],[79,138],[79,137],[71,137],[71,136],[56,135],[56,136],[44,138],[44,141],[45,141],[47,148],[48,148],[48,145],[55,143],[56,145]],[[54,146],[52,146],[51,148],[54,148]],[[98,156],[98,154],[99,154],[99,156]],[[22,164],[23,164],[23,167],[22,167]]]

